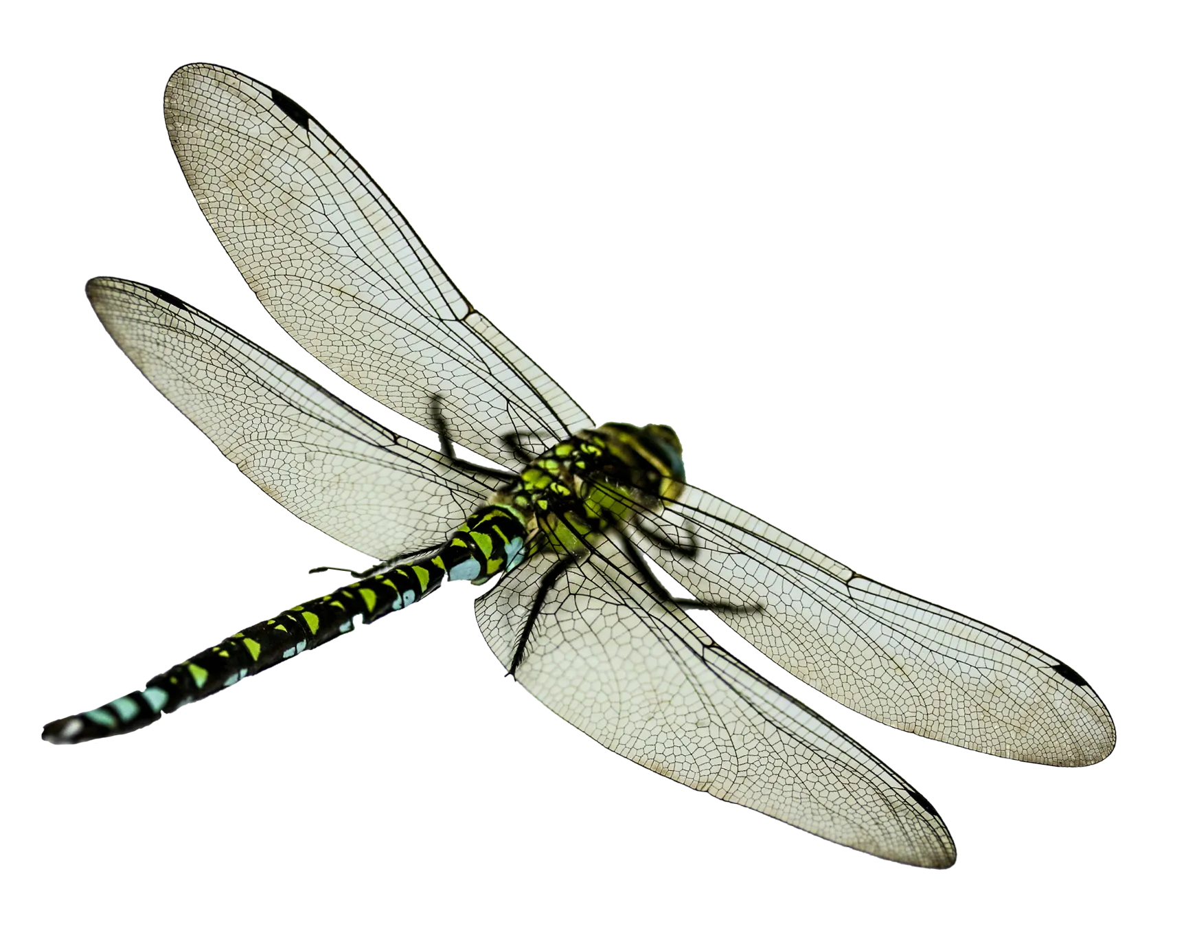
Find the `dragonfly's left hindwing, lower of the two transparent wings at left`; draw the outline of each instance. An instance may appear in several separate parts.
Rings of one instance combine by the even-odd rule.
[[[492,489],[167,292],[98,276],[87,295],[165,400],[270,498],[346,547],[388,559],[438,543]]]

